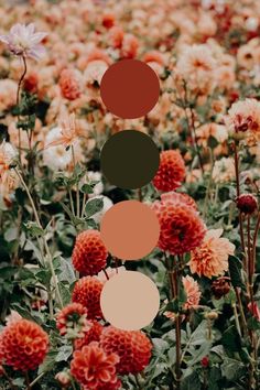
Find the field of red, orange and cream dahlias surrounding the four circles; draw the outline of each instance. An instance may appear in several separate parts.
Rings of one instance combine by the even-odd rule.
[[[13,3],[0,0],[0,389],[259,389],[260,2]],[[128,120],[107,110],[100,82],[131,58],[161,93]],[[127,129],[160,151],[137,191],[100,171],[104,143]],[[140,261],[100,238],[126,199],[160,221]],[[126,270],[160,291],[141,331],[100,310]]]

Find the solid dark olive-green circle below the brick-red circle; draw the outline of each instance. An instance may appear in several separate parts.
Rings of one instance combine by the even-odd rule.
[[[141,188],[153,180],[159,163],[158,147],[149,136],[138,130],[113,134],[101,149],[102,174],[117,187]]]

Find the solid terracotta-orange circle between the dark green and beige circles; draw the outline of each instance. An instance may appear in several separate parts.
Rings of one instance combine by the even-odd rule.
[[[112,206],[100,224],[101,240],[121,260],[140,260],[158,245],[160,224],[153,209],[138,201]]]

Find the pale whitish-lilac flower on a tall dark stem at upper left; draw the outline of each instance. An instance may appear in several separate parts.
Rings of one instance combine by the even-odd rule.
[[[15,24],[9,34],[0,35],[0,41],[6,43],[11,53],[18,56],[40,59],[44,54],[44,47],[40,45],[46,33],[35,32],[33,23]]]

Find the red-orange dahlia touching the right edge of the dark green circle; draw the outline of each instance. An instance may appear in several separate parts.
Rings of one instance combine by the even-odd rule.
[[[177,150],[166,150],[160,154],[160,165],[153,178],[156,189],[169,192],[180,187],[185,178],[185,163]]]

